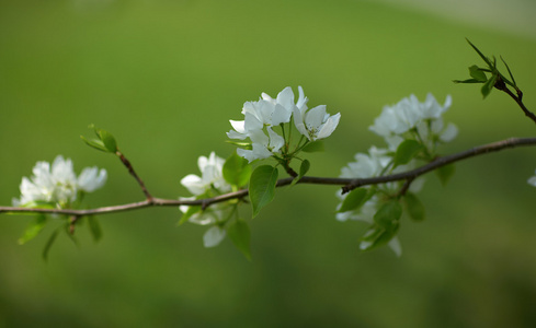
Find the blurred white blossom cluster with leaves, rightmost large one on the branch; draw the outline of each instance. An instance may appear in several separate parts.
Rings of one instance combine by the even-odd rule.
[[[447,127],[443,125],[442,115],[451,107],[451,103],[449,96],[441,106],[431,94],[427,95],[424,103],[420,103],[414,95],[411,95],[394,106],[385,107],[369,129],[384,137],[387,148],[372,147],[367,154],[357,153],[355,162],[343,167],[340,176],[343,178],[377,177],[412,169],[417,167],[419,160],[433,160],[437,143],[451,141],[457,134],[454,125],[449,124]],[[409,142],[412,143],[413,148],[409,153],[400,155],[406,150],[400,151],[398,148],[406,140],[411,140]],[[410,183],[409,189],[404,192],[414,194],[422,188],[424,178],[420,177]],[[392,181],[363,187],[366,191],[362,191],[362,194],[366,192],[366,197],[360,206],[347,211],[341,211],[347,194],[338,192],[338,197],[341,199],[337,213],[339,221],[358,220],[370,224],[369,231],[361,242],[360,247],[362,249],[369,249],[374,246],[375,241],[372,236],[386,232],[386,227],[381,226],[381,223],[375,222],[375,215],[383,206],[400,197],[403,184],[404,181]],[[413,206],[415,204],[413,203]],[[398,219],[395,220],[398,221]],[[396,224],[398,226],[398,222]],[[400,243],[396,236],[390,237],[388,245],[397,255],[401,254]]]

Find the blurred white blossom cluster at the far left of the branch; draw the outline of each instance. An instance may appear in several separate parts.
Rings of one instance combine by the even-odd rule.
[[[77,177],[70,159],[58,155],[52,166],[48,162],[37,162],[31,178],[23,177],[20,186],[21,198],[13,199],[13,206],[52,203],[60,208],[69,207],[80,192],[92,192],[106,183],[104,168],[85,167]]]

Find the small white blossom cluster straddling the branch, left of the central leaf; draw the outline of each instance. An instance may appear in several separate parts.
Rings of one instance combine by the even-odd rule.
[[[189,174],[181,179],[181,184],[194,195],[194,198],[210,198],[229,192],[231,185],[224,178],[224,163],[225,160],[218,157],[214,152],[208,157],[199,156],[197,166],[199,167],[201,176]],[[190,207],[181,206],[179,209],[186,214]],[[203,236],[205,247],[216,246],[225,238],[226,232],[220,224],[225,223],[231,212],[232,207],[220,202],[189,216],[189,221],[192,223],[212,225]]]

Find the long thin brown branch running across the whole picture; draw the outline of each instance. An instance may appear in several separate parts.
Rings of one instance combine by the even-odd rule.
[[[438,167],[458,161],[463,161],[469,157],[475,157],[478,155],[488,154],[491,152],[498,152],[505,149],[527,147],[527,145],[536,145],[536,138],[510,138],[493,143],[475,147],[472,149],[459,153],[455,153],[443,157],[437,157],[433,162],[430,162],[415,169],[411,169],[398,174],[370,177],[370,178],[360,178],[360,179],[304,176],[299,179],[298,184],[343,186],[342,191],[343,194],[345,194],[361,186],[378,185],[378,184],[385,184],[389,181],[397,181],[397,180],[404,180],[404,179],[413,180],[414,178],[424,175],[431,171],[434,171]],[[283,186],[290,185],[293,179],[294,179],[293,177],[280,179],[277,180],[276,186],[283,187]],[[28,209],[28,208],[0,207],[0,213],[28,213],[28,214],[55,213],[55,214],[65,214],[65,215],[73,215],[77,218],[81,218],[85,215],[109,214],[109,213],[130,211],[130,210],[137,210],[137,209],[149,208],[149,207],[202,206],[203,208],[207,208],[217,202],[243,198],[248,196],[248,192],[249,192],[248,189],[241,189],[238,191],[220,195],[214,198],[205,198],[205,199],[196,199],[196,200],[175,200],[175,199],[161,199],[161,198],[151,197],[144,201],[132,202],[132,203],[119,204],[119,206],[102,207],[102,208],[89,209],[89,210],[35,209],[35,208]]]

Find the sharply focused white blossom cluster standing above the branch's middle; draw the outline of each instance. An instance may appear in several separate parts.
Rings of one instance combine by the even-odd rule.
[[[227,132],[230,139],[250,139],[250,142],[246,143],[247,149],[237,150],[240,156],[252,162],[286,154],[289,151],[293,120],[299,133],[307,139],[306,143],[324,139],[334,131],[341,114],[330,116],[326,112],[326,105],[308,109],[308,98],[304,95],[301,86],[298,86],[298,91],[296,103],[293,90],[287,86],[277,94],[276,98],[262,93],[258,102],[243,104],[244,119],[230,120],[233,130]],[[285,124],[290,124],[287,134],[285,134]],[[283,136],[274,131],[278,126]],[[298,142],[297,149],[299,147]]]

